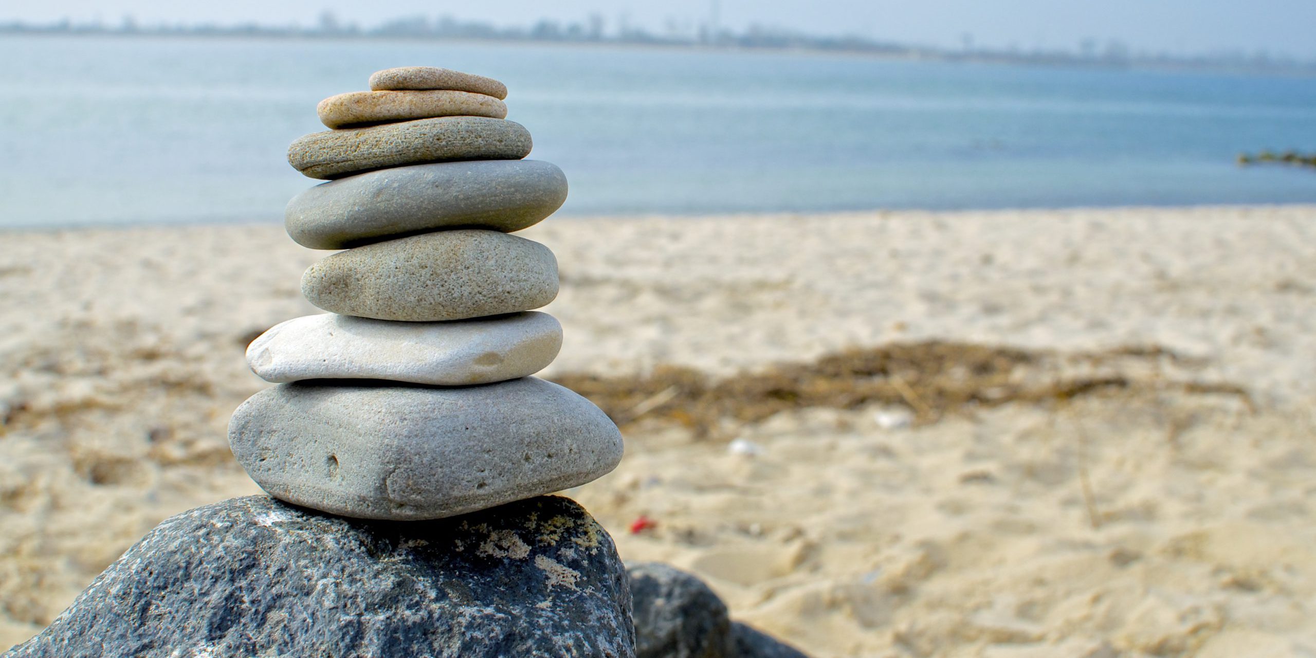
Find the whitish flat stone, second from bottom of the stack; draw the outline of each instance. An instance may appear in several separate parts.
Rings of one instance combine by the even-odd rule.
[[[533,375],[562,347],[562,325],[534,311],[451,322],[324,313],[280,322],[247,347],[267,382],[387,379],[471,386]]]

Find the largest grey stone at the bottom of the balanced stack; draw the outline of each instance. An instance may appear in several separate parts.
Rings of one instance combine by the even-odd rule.
[[[392,520],[576,487],[621,461],[621,433],[608,416],[536,378],[462,388],[279,384],[233,412],[229,445],[280,500]]]

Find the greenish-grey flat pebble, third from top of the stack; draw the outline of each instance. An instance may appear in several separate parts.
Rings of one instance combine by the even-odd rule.
[[[288,163],[307,176],[336,179],[422,162],[519,161],[530,146],[530,132],[505,118],[417,118],[311,133],[288,147]]]

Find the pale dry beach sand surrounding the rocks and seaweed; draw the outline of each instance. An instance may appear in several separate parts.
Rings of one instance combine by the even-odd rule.
[[[621,467],[570,495],[624,558],[694,570],[734,616],[816,655],[1313,655],[1313,220],[549,220],[521,233],[562,265],[547,311],[566,342],[546,375],[725,376],[929,338],[1051,354],[1033,379],[1092,370],[1075,351],[1180,357],[1124,351],[1100,368],[1137,386],[915,426],[880,401],[722,418],[695,438],[645,417],[650,399]],[[267,386],[242,349],[316,311],[297,282],[322,253],[268,225],[0,243],[5,647],[163,517],[257,491],[225,442],[229,413]],[[1250,400],[1199,386],[1221,383]],[[655,526],[632,534],[641,515]]]

